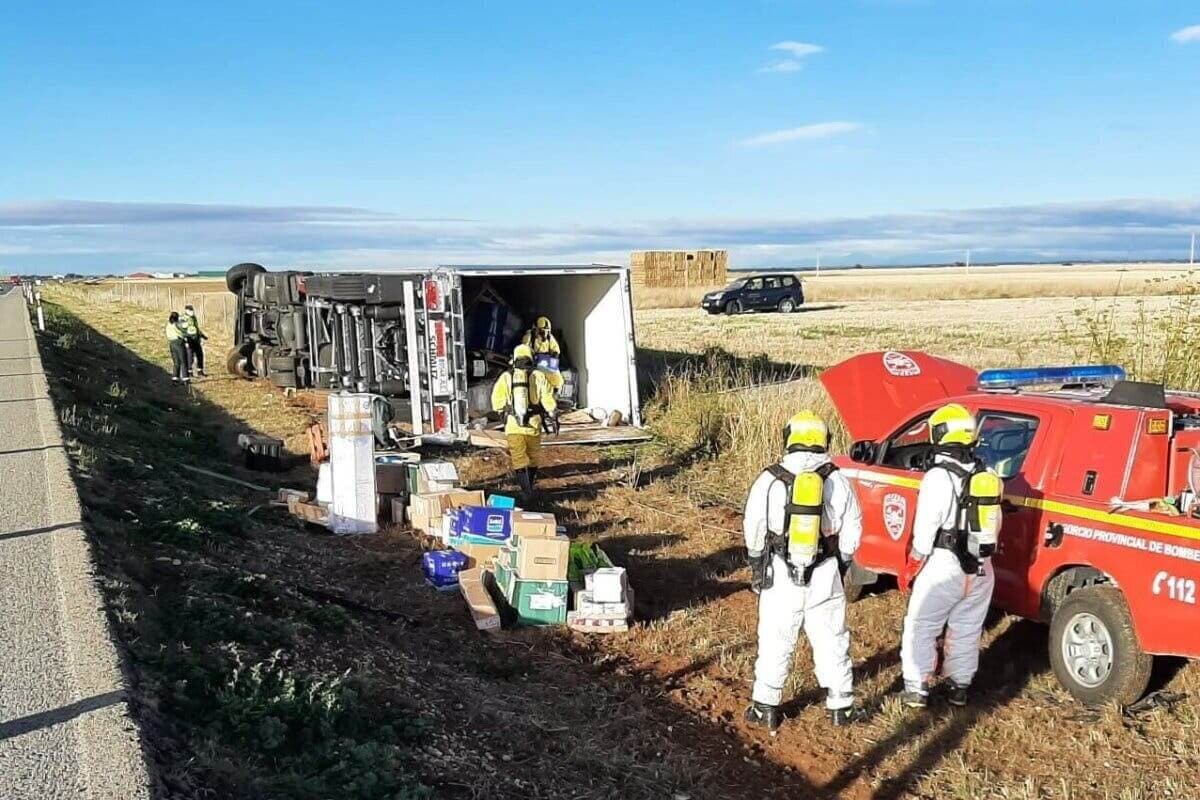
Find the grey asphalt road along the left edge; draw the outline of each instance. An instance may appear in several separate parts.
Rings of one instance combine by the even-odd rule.
[[[0,294],[0,798],[149,798],[20,291]]]

